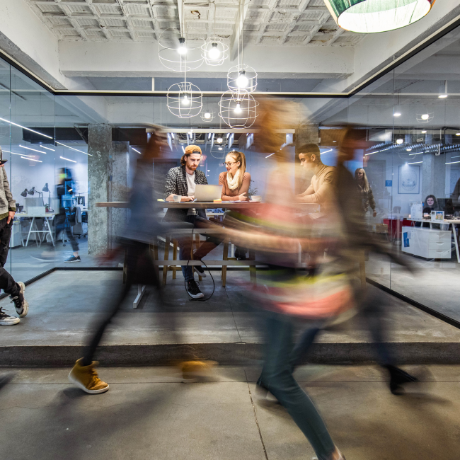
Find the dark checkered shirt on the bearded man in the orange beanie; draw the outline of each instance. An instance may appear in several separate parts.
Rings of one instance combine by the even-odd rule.
[[[173,194],[180,195],[183,197],[188,196],[188,185],[187,185],[187,176],[185,176],[185,166],[177,166],[176,168],[171,168],[168,171],[168,176],[166,176],[166,183],[164,187],[163,199]],[[195,171],[195,184],[207,185],[207,179],[205,173],[202,171]],[[165,220],[166,221],[184,221],[187,217],[188,209],[168,209],[166,212]],[[206,219],[206,210],[197,209],[197,213],[200,217]]]

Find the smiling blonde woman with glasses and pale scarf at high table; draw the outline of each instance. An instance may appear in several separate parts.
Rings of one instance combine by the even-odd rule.
[[[251,174],[246,173],[246,156],[242,151],[229,151],[225,158],[226,173],[219,174],[222,185],[222,201],[248,201],[247,196]],[[236,247],[236,260],[246,260],[247,248]]]

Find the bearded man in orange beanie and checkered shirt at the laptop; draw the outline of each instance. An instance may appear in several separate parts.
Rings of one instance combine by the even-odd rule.
[[[166,177],[166,185],[164,192],[164,199],[166,201],[173,201],[173,195],[180,195],[181,202],[189,202],[195,199],[195,185],[207,185],[205,173],[198,171],[197,167],[201,160],[201,149],[196,145],[188,145],[185,152],[180,159],[180,166],[171,168]],[[205,228],[211,226],[206,218],[205,209],[168,209],[165,216],[167,222],[189,222],[197,228]],[[195,260],[201,260],[207,253],[222,243],[224,238],[219,236],[207,236],[205,243],[202,243],[199,249],[193,254]],[[190,260],[190,253],[192,248],[192,231],[190,229],[190,236],[178,238],[179,243],[179,258],[180,260]],[[205,270],[200,265],[183,265],[182,272],[185,278],[185,286],[188,294],[193,299],[201,299],[204,297],[200,291],[195,278],[193,277],[193,269],[205,277]]]

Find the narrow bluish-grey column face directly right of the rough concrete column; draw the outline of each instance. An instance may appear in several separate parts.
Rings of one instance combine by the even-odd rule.
[[[112,180],[110,180],[110,201],[127,201],[128,180],[130,177],[130,143],[112,142],[111,149]],[[127,209],[110,209],[110,236],[120,236],[127,224]]]

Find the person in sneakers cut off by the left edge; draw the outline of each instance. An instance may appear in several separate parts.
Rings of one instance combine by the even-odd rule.
[[[0,159],[3,153],[0,147]],[[16,202],[11,194],[8,176],[4,164],[0,165],[0,289],[9,294],[19,318],[28,314],[29,303],[24,299],[25,284],[16,282],[6,271],[6,258],[10,246],[11,229],[13,227]],[[10,316],[0,307],[0,326],[13,326],[21,321],[16,316]]]

